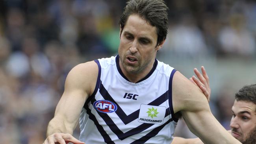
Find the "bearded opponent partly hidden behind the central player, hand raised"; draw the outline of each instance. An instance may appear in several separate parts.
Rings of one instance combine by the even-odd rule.
[[[206,70],[202,66],[202,74],[195,68],[198,79],[193,76],[190,80],[204,92],[210,101],[210,85]],[[232,107],[231,130],[228,132],[243,144],[256,144],[256,84],[245,85],[235,95]],[[171,144],[204,144],[199,138],[174,137]]]

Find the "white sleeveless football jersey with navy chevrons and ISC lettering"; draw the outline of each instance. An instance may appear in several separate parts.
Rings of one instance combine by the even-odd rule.
[[[175,69],[155,59],[149,74],[130,82],[116,57],[95,60],[95,91],[80,114],[80,140],[86,144],[170,144],[178,122],[173,118]]]

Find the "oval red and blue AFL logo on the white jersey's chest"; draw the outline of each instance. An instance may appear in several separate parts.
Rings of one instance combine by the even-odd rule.
[[[117,110],[117,105],[109,100],[98,100],[93,103],[93,107],[100,113],[113,113]]]

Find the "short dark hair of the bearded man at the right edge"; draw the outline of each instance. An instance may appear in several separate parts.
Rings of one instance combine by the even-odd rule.
[[[246,102],[252,102],[256,105],[256,84],[245,85],[239,92],[236,93],[236,100],[242,100]]]

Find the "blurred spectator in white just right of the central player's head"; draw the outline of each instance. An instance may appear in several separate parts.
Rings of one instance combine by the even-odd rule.
[[[169,29],[166,47],[176,54],[197,57],[207,53],[202,32],[197,28],[193,17],[186,15],[181,21]]]

